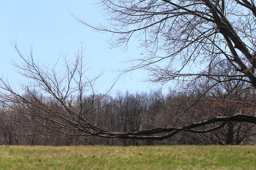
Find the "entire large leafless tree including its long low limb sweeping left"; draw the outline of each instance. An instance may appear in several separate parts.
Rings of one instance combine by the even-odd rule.
[[[86,20],[79,21],[98,31],[112,32],[117,38],[114,45],[125,45],[138,37],[141,47],[145,47],[143,57],[135,58],[135,64],[128,71],[144,68],[151,75],[150,81],[173,80],[178,85],[183,85],[180,82],[191,85],[202,77],[215,80],[206,91],[234,80],[256,88],[256,7],[253,0],[99,0],[98,4],[107,12],[110,27],[94,27]],[[140,129],[136,125],[132,131],[112,132],[99,127],[97,119],[91,119],[90,111],[98,109],[95,104],[102,96],[94,92],[96,79],[85,76],[80,55],[72,66],[66,62],[66,73],[58,75],[54,68],[37,64],[32,53],[26,58],[15,48],[24,60],[24,64],[17,67],[30,79],[30,84],[23,86],[24,94],[20,94],[1,79],[0,97],[10,109],[16,109],[12,104],[23,107],[16,111],[25,116],[27,124],[80,136],[166,139],[182,131],[211,132],[231,121],[256,123],[255,113],[235,114],[183,127]],[[211,72],[223,62],[228,62],[230,67],[224,68],[221,74]],[[92,93],[89,101],[83,98],[86,92]],[[40,94],[51,96],[52,104],[44,101]],[[76,105],[72,102],[73,96],[78,98]],[[32,117],[37,117],[36,121]]]

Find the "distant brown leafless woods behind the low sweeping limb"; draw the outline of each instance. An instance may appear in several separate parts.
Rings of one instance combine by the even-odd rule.
[[[234,91],[228,94],[215,91],[204,96],[200,93],[196,90],[191,93],[170,91],[169,94],[163,95],[160,91],[156,91],[101,96],[92,105],[86,105],[90,107],[84,108],[83,113],[92,124],[113,132],[133,132],[157,127],[182,127],[210,117],[230,116],[238,113],[256,114],[254,90]],[[43,95],[41,98],[48,103],[48,106],[63,110],[63,115],[68,114],[55,99]],[[85,96],[83,102],[90,103],[92,102],[91,98],[91,96]],[[70,97],[69,105],[75,108],[79,103],[78,100],[76,97]],[[54,121],[41,120],[32,114],[37,112],[37,115],[40,113],[44,117],[49,116],[48,118],[51,120],[48,113],[32,108],[31,106],[27,107],[27,110],[23,111],[27,114],[24,115],[19,111],[25,108],[18,103],[15,104],[15,107],[12,104],[12,109],[10,106],[1,106],[0,144],[54,146],[256,144],[255,125],[238,122],[229,122],[221,130],[211,133],[182,132],[162,141],[81,136],[73,130],[67,130],[66,134],[63,134],[58,132],[58,129],[57,131],[50,129]],[[38,126],[35,126],[35,122],[38,122]]]

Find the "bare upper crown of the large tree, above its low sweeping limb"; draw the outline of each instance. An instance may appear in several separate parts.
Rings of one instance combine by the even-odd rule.
[[[110,25],[98,27],[76,19],[100,32],[113,33],[114,46],[138,39],[145,53],[132,60],[135,64],[128,71],[144,68],[153,82],[174,80],[185,86],[203,79],[214,82],[204,82],[201,96],[230,82],[255,89],[254,0],[99,0],[98,5],[106,11]],[[255,111],[246,114],[253,117]]]

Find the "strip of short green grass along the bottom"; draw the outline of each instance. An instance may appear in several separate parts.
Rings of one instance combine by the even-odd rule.
[[[0,146],[0,170],[256,170],[256,146]]]

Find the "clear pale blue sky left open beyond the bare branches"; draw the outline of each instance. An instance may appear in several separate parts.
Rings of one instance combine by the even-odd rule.
[[[12,61],[20,62],[11,42],[17,42],[20,51],[28,55],[31,47],[34,57],[43,64],[56,62],[60,55],[73,56],[85,46],[85,60],[89,75],[97,75],[97,90],[104,93],[115,81],[116,70],[128,67],[123,61],[136,58],[140,49],[111,48],[110,34],[96,32],[76,21],[71,13],[89,23],[106,23],[101,11],[92,3],[95,0],[1,0],[0,1],[0,72],[11,81],[20,80]],[[146,73],[135,71],[122,77],[113,91],[149,92],[159,85],[141,82]]]

